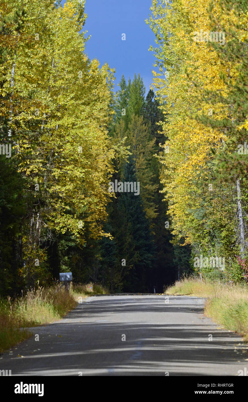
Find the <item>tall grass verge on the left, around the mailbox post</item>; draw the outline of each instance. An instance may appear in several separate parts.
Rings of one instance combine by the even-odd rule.
[[[56,285],[38,287],[14,300],[0,299],[0,353],[29,338],[33,333],[28,327],[59,320],[76,307],[80,297],[105,293],[107,289],[89,283],[72,285],[69,292]]]

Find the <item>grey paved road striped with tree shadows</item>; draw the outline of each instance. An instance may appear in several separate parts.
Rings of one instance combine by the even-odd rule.
[[[236,376],[248,368],[247,346],[206,318],[203,305],[189,296],[87,297],[63,320],[32,328],[31,338],[1,356],[0,369],[12,375]]]

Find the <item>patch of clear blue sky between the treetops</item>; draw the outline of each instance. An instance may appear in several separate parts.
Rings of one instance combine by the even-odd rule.
[[[64,1],[62,2],[62,4]],[[155,35],[146,25],[152,0],[86,0],[88,14],[84,30],[91,35],[86,44],[90,59],[96,58],[100,66],[107,62],[115,68],[115,90],[122,74],[133,80],[134,73],[143,77],[146,93],[152,83],[155,58],[150,45]],[[126,40],[121,40],[121,34]]]

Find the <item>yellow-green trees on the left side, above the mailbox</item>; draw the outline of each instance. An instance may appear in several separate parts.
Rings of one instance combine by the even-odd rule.
[[[69,252],[108,236],[121,147],[108,136],[113,70],[84,53],[84,1],[1,2],[0,14],[0,139],[12,146],[0,155],[0,291],[15,293],[73,271]]]

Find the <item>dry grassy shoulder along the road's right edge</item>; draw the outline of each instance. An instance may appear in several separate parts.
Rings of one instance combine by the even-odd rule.
[[[170,295],[206,297],[205,314],[224,328],[239,332],[248,341],[248,286],[218,281],[182,279],[166,289]]]

